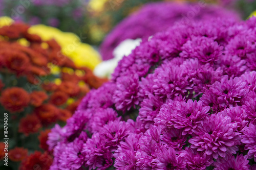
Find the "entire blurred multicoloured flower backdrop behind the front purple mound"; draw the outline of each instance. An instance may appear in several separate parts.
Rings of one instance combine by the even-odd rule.
[[[254,0],[0,0],[0,169],[49,169],[50,129],[143,38],[178,21],[245,20],[255,10]]]

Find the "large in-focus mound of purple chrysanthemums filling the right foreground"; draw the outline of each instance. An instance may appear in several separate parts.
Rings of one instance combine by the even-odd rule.
[[[51,169],[256,169],[256,17],[176,23],[49,134]]]

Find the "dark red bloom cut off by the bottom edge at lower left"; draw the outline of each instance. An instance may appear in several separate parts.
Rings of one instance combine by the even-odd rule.
[[[52,157],[48,153],[36,151],[20,163],[19,170],[40,169],[48,170],[52,164]]]

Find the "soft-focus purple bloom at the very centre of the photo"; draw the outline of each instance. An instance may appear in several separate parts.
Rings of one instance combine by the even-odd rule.
[[[120,77],[116,82],[116,90],[113,95],[113,101],[116,103],[116,109],[125,112],[135,105],[139,104],[139,78],[137,75],[133,77]]]

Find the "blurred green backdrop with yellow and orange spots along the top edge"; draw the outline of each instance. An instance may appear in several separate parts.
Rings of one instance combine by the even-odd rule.
[[[161,1],[163,0],[1,0],[0,15],[22,20],[30,25],[40,23],[64,32],[73,32],[80,37],[87,37],[83,38],[82,42],[99,45],[105,35],[123,18],[138,11],[146,3]],[[185,0],[175,2],[186,3]],[[246,19],[256,6],[253,0],[205,0],[202,2],[236,10],[243,19]]]

